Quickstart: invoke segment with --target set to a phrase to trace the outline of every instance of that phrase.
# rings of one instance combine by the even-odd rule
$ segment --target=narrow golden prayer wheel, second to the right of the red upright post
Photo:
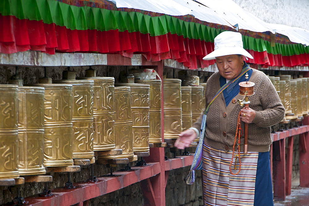
[[[182,130],[192,127],[191,87],[181,86]]]

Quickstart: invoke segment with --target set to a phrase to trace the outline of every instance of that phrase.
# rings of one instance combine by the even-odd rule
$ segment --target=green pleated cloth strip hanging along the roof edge
[[[225,31],[203,24],[180,20],[170,15],[149,16],[140,12],[107,10],[95,7],[77,7],[56,0],[1,0],[0,14],[13,15],[18,19],[42,20],[45,24],[65,26],[71,30],[96,29],[120,32],[149,33],[159,36],[177,34],[189,39],[214,42],[214,37]],[[301,44],[280,44],[274,47],[261,38],[243,36],[244,48],[283,56],[309,54],[309,47]]]

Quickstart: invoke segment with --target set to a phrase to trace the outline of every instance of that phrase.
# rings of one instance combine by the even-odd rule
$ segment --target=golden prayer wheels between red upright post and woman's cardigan
[[[178,138],[201,116],[204,86],[181,86],[180,79],[163,79],[164,139]]]

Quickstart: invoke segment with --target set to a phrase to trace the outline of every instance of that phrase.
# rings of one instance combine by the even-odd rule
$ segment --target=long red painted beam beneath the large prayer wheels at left
[[[127,172],[114,172],[113,177],[98,177],[98,182],[82,181],[74,183],[74,189],[52,189],[51,191],[53,196],[50,197],[40,197],[38,195],[34,195],[26,197],[25,200],[28,201],[29,205],[32,206],[87,205],[88,199],[119,190],[135,182],[139,182],[141,180],[153,177],[161,172],[159,163],[147,164],[147,166],[131,167],[131,170]]]

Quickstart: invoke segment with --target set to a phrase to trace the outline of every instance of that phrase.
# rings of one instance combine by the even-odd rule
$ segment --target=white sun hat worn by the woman
[[[218,56],[240,54],[250,59],[253,57],[243,48],[243,40],[238,32],[226,31],[214,38],[214,51],[206,55],[203,60],[213,60]]]

